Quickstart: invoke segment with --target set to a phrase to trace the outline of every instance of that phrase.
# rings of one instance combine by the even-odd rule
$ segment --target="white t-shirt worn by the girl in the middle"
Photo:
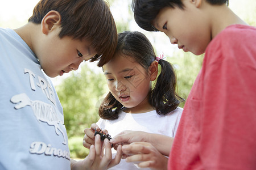
[[[146,131],[148,133],[156,133],[175,137],[177,127],[179,125],[180,117],[183,108],[177,108],[174,111],[160,116],[156,111],[147,113],[125,113],[121,111],[116,120],[103,120],[100,118],[96,123],[102,130],[108,130],[111,137],[121,133],[124,130]],[[112,148],[112,157],[116,155],[116,151]],[[109,169],[150,169],[138,168],[137,164],[127,163],[121,159],[118,165]]]

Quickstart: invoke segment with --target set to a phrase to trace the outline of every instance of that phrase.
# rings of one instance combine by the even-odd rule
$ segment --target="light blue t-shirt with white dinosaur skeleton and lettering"
[[[0,169],[70,169],[63,108],[26,42],[0,28]]]

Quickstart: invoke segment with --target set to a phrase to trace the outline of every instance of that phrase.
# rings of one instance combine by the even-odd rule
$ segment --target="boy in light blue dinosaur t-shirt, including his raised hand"
[[[82,61],[102,66],[116,45],[103,0],[42,0],[26,25],[0,28],[0,169],[106,169],[119,162],[108,140],[101,157],[98,137],[87,158],[70,158],[63,108],[48,78]]]

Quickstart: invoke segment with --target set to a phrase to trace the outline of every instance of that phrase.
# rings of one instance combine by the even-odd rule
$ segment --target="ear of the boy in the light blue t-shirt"
[[[61,16],[57,11],[49,11],[44,18],[42,19],[42,32],[47,35],[50,31],[52,31],[55,27],[59,27],[61,25]]]

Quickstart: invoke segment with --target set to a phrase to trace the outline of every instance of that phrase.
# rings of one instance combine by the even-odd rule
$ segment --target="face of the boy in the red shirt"
[[[184,9],[165,7],[160,10],[153,25],[184,52],[203,54],[211,40],[209,21],[192,1],[183,3]]]

